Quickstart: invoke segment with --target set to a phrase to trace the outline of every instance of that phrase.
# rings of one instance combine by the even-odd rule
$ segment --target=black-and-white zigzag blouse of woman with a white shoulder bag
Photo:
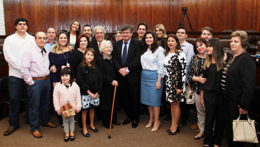
[[[190,62],[190,66],[189,66],[189,70],[187,73],[187,78],[189,79],[190,82],[193,83],[194,87],[193,87],[193,91],[195,93],[197,93],[198,95],[200,95],[200,89],[199,89],[199,82],[195,82],[192,81],[192,77],[194,76],[194,61],[195,61],[195,55],[191,57],[191,62]],[[196,69],[196,77],[201,76],[201,70],[202,70],[202,65],[204,63],[205,59],[204,58],[200,58],[199,56],[196,56],[196,63],[195,63],[195,69]],[[192,85],[191,85],[192,87]]]

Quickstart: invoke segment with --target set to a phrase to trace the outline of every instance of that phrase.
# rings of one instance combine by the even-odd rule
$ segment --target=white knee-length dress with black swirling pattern
[[[186,55],[182,51],[177,54],[169,52],[164,59],[166,71],[166,100],[168,102],[183,102],[186,81]],[[177,89],[183,91],[177,95]]]

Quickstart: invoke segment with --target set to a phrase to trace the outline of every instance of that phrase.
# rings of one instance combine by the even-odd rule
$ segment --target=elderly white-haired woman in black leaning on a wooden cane
[[[109,129],[110,126],[110,115],[112,110],[112,103],[113,103],[113,95],[114,95],[114,88],[118,86],[118,82],[116,81],[116,70],[113,66],[114,60],[110,55],[113,46],[111,41],[104,40],[99,48],[102,56],[99,56],[96,60],[97,65],[99,66],[102,77],[103,77],[103,87],[100,93],[100,103],[99,108],[102,110],[102,125]],[[119,108],[119,100],[118,95],[115,95],[115,102],[114,102],[114,111],[113,111],[113,118],[112,123],[114,125],[120,125],[119,121],[116,121],[116,109]],[[113,126],[111,126],[113,129]]]

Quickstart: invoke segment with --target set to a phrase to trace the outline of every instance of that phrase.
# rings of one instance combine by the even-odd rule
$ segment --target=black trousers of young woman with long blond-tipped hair
[[[224,121],[224,104],[213,105],[204,101],[205,104],[205,125],[204,125],[204,145],[215,144],[220,146],[225,130]],[[215,129],[213,133],[213,125],[215,123]]]

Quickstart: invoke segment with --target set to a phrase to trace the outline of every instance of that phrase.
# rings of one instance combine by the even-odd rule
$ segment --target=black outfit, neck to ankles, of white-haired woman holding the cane
[[[102,110],[102,124],[103,126],[109,126],[110,116],[113,104],[115,86],[111,83],[116,80],[116,70],[113,66],[114,60],[110,56],[110,60],[102,54],[97,58],[97,65],[100,67],[100,71],[103,77],[103,86],[100,93],[99,109]],[[111,62],[110,62],[111,61]],[[119,108],[118,92],[116,91],[114,111],[113,111],[113,122],[116,122],[117,112],[115,108]]]

